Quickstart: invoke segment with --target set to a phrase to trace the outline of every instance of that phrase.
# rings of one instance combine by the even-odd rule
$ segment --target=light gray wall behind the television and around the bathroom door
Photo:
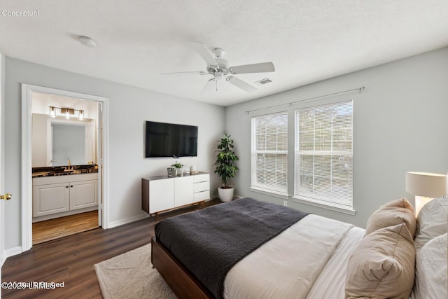
[[[197,158],[181,158],[188,167],[213,171],[216,142],[224,132],[225,109],[150,90],[43,67],[6,57],[4,100],[6,190],[14,200],[6,202],[6,249],[21,244],[21,85],[29,83],[60,90],[109,97],[109,207],[110,222],[122,223],[141,216],[141,177],[166,174],[171,158],[144,158],[144,122],[197,125]],[[219,181],[211,175],[212,190]]]

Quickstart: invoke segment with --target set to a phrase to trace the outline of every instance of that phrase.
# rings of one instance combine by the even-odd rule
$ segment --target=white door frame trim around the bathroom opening
[[[96,95],[87,95],[79,92],[58,90],[38,85],[22,83],[22,252],[31,249],[32,238],[32,218],[33,218],[33,181],[32,181],[32,148],[31,148],[31,92],[47,93],[50,95],[61,95],[65,97],[75,97],[87,99],[102,104],[103,132],[102,138],[98,136],[97,145],[103,139],[103,156],[99,160],[99,180],[103,180],[102,193],[103,200],[99,200],[98,209],[102,213],[102,227],[109,228],[109,98]],[[98,124],[99,126],[101,123]],[[101,197],[99,197],[101,198]]]

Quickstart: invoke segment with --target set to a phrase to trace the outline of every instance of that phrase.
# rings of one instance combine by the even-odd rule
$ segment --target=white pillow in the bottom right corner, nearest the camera
[[[448,298],[447,233],[431,239],[416,256],[414,298]]]

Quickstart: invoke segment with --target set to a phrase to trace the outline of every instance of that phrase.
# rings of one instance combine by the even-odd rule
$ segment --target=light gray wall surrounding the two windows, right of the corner
[[[285,104],[333,92],[366,89],[338,96],[353,99],[353,208],[351,216],[288,200],[288,206],[365,227],[381,204],[405,193],[405,172],[446,174],[448,170],[448,48],[372,67],[226,109],[226,132],[235,139],[239,174],[232,182],[238,195],[282,204],[283,200],[249,190],[251,186],[251,116],[245,111]],[[271,84],[275,84],[271,83]],[[317,102],[317,101],[316,101]],[[309,103],[307,103],[309,104]],[[288,108],[263,111],[290,111]],[[260,113],[260,112],[259,112]],[[290,123],[291,124],[291,123]],[[288,131],[290,149],[294,129]],[[293,151],[289,152],[293,155]],[[288,191],[293,194],[293,160]]]

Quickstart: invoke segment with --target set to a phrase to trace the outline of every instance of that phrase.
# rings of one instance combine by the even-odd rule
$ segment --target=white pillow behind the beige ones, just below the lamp
[[[448,197],[438,197],[421,208],[417,217],[415,249],[418,252],[430,239],[447,233]]]

